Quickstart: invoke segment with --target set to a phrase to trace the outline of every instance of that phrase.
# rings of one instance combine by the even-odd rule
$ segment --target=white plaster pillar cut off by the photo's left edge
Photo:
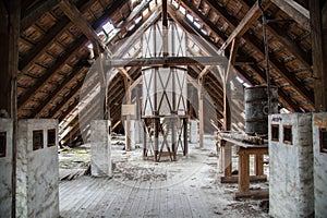
[[[0,119],[0,131],[7,132],[5,157],[0,157],[0,217],[11,217],[12,120]]]

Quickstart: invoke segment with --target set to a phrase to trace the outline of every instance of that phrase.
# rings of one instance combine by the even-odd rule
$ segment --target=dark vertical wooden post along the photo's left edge
[[[17,71],[21,1],[0,1],[0,110],[1,117],[13,120],[12,135],[12,210],[16,217],[16,138],[17,138]]]

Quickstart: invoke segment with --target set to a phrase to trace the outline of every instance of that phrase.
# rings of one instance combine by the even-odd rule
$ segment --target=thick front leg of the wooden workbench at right
[[[239,192],[247,193],[250,190],[250,161],[249,153],[241,147],[239,150]]]

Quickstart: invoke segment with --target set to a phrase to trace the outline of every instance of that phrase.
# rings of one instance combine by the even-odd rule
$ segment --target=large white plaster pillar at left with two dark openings
[[[56,145],[48,147],[48,130]],[[44,148],[33,150],[33,131],[44,131]],[[20,120],[17,142],[17,217],[59,217],[58,122]]]

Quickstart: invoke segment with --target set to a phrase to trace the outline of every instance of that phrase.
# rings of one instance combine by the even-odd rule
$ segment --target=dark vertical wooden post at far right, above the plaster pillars
[[[312,56],[313,56],[313,73],[315,77],[315,110],[327,111],[327,71],[324,65],[324,45],[323,36],[323,15],[322,5],[319,1],[310,1],[310,15],[311,15],[311,41],[312,41]]]

